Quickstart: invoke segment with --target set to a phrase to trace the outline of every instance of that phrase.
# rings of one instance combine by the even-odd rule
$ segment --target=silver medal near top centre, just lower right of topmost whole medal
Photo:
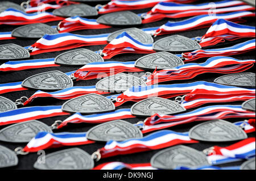
[[[112,12],[97,18],[97,23],[110,26],[135,26],[142,23],[141,17],[131,11]]]

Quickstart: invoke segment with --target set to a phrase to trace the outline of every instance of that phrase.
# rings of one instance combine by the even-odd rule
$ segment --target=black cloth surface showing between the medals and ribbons
[[[21,3],[23,2],[22,0],[20,1],[14,1],[15,3]],[[213,1],[198,1],[197,3],[203,3],[203,2],[213,2]],[[94,3],[92,5],[97,5],[97,3]],[[147,12],[150,9],[143,9],[143,10],[134,10],[133,12],[135,13],[141,13],[141,12]],[[171,19],[171,21],[179,21],[179,20],[183,20],[186,18],[182,18],[182,19]],[[243,23],[249,26],[255,26],[255,19],[254,18],[246,18],[247,22]],[[160,20],[158,22],[154,22],[154,23],[148,23],[148,24],[142,24],[142,26],[139,26],[138,28],[146,28],[146,27],[156,27],[156,26],[161,26],[165,23],[168,22],[168,19],[163,19]],[[46,23],[48,25],[51,26],[56,26],[58,24],[58,22],[49,22]],[[7,32],[7,31],[12,31],[14,30],[14,28],[16,28],[18,26],[7,26],[7,25],[0,25],[0,31],[1,32]],[[81,31],[75,31],[72,33],[77,33],[80,35],[97,35],[97,34],[101,34],[101,33],[110,33],[110,32],[114,32],[117,30],[121,30],[122,28],[106,28],[106,29],[100,29],[100,30],[81,30]],[[174,34],[179,34],[179,35],[183,35],[183,36],[187,36],[187,37],[196,37],[196,36],[203,36],[205,32],[207,32],[208,28],[203,28],[200,30],[189,30],[189,31],[185,31],[185,32],[180,32],[180,33],[174,33]],[[155,37],[154,40],[159,40],[162,39],[163,37],[166,37],[168,35],[164,35],[164,36],[158,36]],[[170,35],[169,35],[170,36]],[[14,39],[14,40],[1,40],[0,44],[8,44],[8,43],[14,43],[14,44],[18,44],[22,47],[26,47],[28,45],[34,44],[35,43],[35,39]],[[240,39],[238,41],[232,41],[232,42],[225,42],[222,44],[218,44],[216,46],[214,46],[215,48],[221,48],[221,47],[228,47],[240,42],[246,41],[246,39]],[[89,46],[89,47],[83,47],[89,50],[99,50],[99,49],[103,49],[105,47],[105,45],[94,45],[94,46]],[[52,58],[52,57],[56,57],[57,55],[66,52],[68,50],[64,50],[64,51],[59,51],[59,52],[50,52],[50,53],[43,53],[43,54],[37,54],[34,56],[31,56],[30,59],[36,59],[36,58]],[[121,54],[118,56],[113,57],[112,61],[135,61],[137,60],[139,57],[144,56],[144,54]],[[249,53],[246,54],[240,54],[240,55],[236,55],[236,56],[232,56],[234,58],[238,58],[241,60],[245,60],[245,59],[255,59],[255,50],[251,51]],[[110,60],[105,60],[105,61],[110,61]],[[197,60],[196,62],[204,62],[205,60],[207,60],[207,58],[201,58],[200,60]],[[6,60],[7,61],[7,60]],[[0,63],[3,64],[5,61],[0,60]],[[0,72],[0,83],[9,83],[9,82],[18,82],[18,81],[23,81],[25,78],[30,77],[31,75],[34,74],[38,74],[38,73],[43,73],[46,71],[52,71],[52,70],[60,70],[65,72],[68,71],[73,71],[73,70],[77,70],[79,69],[80,66],[77,67],[66,67],[66,66],[60,66],[60,67],[54,67],[54,68],[41,68],[41,69],[30,69],[30,70],[23,70],[23,71],[14,71],[14,72],[7,72],[7,73],[2,73]],[[254,68],[251,68],[250,70],[247,70],[250,72],[254,72]],[[183,80],[183,81],[171,81],[171,82],[164,82],[162,84],[172,84],[172,83],[185,83],[185,82],[195,82],[195,81],[208,81],[208,82],[213,82],[213,80],[217,77],[220,77],[223,74],[217,74],[217,73],[205,73],[202,75],[198,75],[197,77],[193,78],[193,79],[188,79],[188,80]],[[93,80],[89,80],[89,81],[79,81],[79,82],[75,82],[74,86],[90,86],[90,85],[95,85],[96,82],[98,80],[97,79],[93,79]],[[19,99],[22,96],[27,96],[30,97],[32,94],[34,94],[35,91],[32,90],[26,90],[26,91],[17,91],[17,92],[9,92],[9,93],[5,93],[2,94],[1,96],[5,96],[6,98],[9,98],[13,101],[15,101],[16,99]],[[38,98],[35,99],[30,106],[53,106],[53,105],[62,105],[65,102],[65,100],[57,100],[57,99],[53,99],[53,98]],[[228,104],[241,104],[242,102],[234,102],[234,103],[228,103]],[[133,105],[132,102],[128,102],[123,104],[122,106],[119,106],[117,109],[120,108],[130,108]],[[204,104],[203,106],[209,106],[210,104]],[[213,105],[213,104],[212,104]],[[191,110],[189,110],[191,111]],[[47,125],[51,125],[52,123],[54,123],[55,120],[64,120],[66,119],[68,116],[58,116],[58,117],[50,117],[50,118],[46,118],[46,119],[40,119],[40,121],[42,121],[43,123],[46,123]],[[137,123],[138,121],[143,121],[144,119],[141,118],[134,118],[134,119],[126,119],[126,121],[129,121],[130,123]],[[244,120],[244,119],[226,119],[230,122],[235,122],[235,121],[240,121],[240,120]],[[176,132],[187,132],[189,131],[190,128],[192,128],[194,125],[199,124],[199,123],[190,123],[190,124],[184,124],[184,125],[179,125],[176,127],[172,127],[170,128],[172,131],[176,131]],[[54,132],[86,132],[88,131],[90,128],[92,128],[95,124],[69,124],[67,127],[64,127],[62,129],[59,130],[55,130]],[[0,129],[5,128],[7,125],[5,126],[1,126]],[[254,137],[255,133],[250,133],[248,134],[249,137]],[[199,144],[189,144],[187,146],[191,147],[191,148],[195,148],[197,150],[203,150],[205,148],[209,148],[210,146],[213,145],[218,145],[218,146],[228,146],[230,144],[234,144],[235,142],[216,142],[216,143],[210,143],[210,142],[200,142]],[[14,144],[14,143],[8,143],[8,142],[2,142],[0,141],[0,145],[6,146],[7,148],[14,150],[16,147],[18,146],[26,146],[26,144]],[[92,154],[94,151],[96,151],[99,148],[102,148],[105,144],[102,143],[96,143],[96,144],[91,144],[91,145],[81,145],[81,146],[76,146],[77,148],[81,148],[82,150],[87,151],[89,154]],[[66,149],[66,148],[71,148],[71,147],[62,147],[62,148],[58,148],[58,149],[47,149],[46,153],[52,153],[53,151],[57,151],[57,150],[62,150],[62,149]],[[111,158],[104,158],[101,159],[100,161],[96,162],[95,165],[100,165],[101,163],[105,163],[105,162],[113,162],[113,161],[119,161],[119,162],[125,162],[125,163],[148,163],[150,162],[150,158],[152,157],[152,155],[154,155],[155,153],[157,153],[159,150],[151,150],[151,151],[146,151],[143,153],[135,153],[135,154],[129,154],[129,155],[121,155],[121,156],[115,156],[115,157],[111,157]],[[34,169],[33,165],[36,162],[37,158],[39,155],[37,155],[37,153],[30,153],[28,155],[19,155],[19,164],[18,166],[14,166],[14,167],[10,167],[8,169]],[[226,163],[224,165],[221,166],[239,166],[241,165],[241,162],[235,162],[235,163]]]

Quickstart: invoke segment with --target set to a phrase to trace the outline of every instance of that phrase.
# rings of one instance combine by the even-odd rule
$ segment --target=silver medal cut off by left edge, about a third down
[[[28,50],[13,43],[0,45],[0,60],[29,58]]]

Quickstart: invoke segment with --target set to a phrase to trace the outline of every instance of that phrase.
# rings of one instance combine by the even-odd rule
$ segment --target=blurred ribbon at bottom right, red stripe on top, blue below
[[[255,157],[255,137],[247,138],[236,144],[220,147],[213,146],[209,149],[208,161],[212,165],[241,161]]]

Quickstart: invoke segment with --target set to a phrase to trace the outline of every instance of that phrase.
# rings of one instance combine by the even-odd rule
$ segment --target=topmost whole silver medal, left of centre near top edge
[[[69,5],[63,6],[59,9],[55,9],[52,11],[53,15],[56,16],[64,16],[64,17],[72,17],[72,16],[97,16],[98,11],[95,7],[85,5],[85,4],[77,4],[77,5]]]

